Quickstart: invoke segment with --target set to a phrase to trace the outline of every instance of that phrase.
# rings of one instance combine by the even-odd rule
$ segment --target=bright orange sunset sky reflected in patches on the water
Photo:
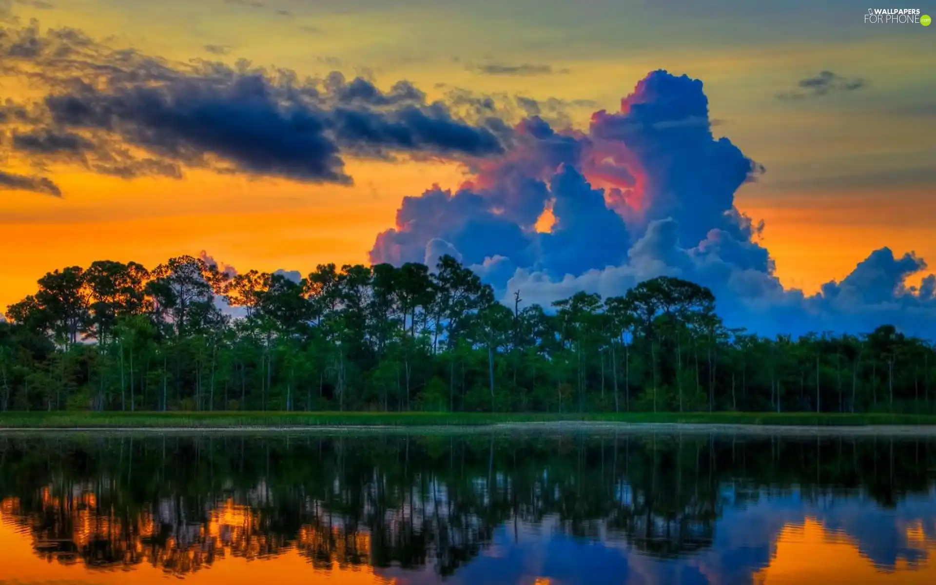
[[[52,504],[52,503],[50,503]],[[93,499],[87,503],[95,505]],[[16,529],[9,516],[14,502],[5,501],[0,511],[0,583],[69,582],[87,584],[164,583],[171,576],[167,570],[154,567],[151,563],[137,563],[132,568],[89,570],[82,563],[62,563],[46,560],[36,554],[34,542],[29,534]],[[231,527],[251,524],[249,511],[228,503],[212,512],[206,532],[218,537],[220,532]],[[80,522],[79,522],[80,523]],[[87,528],[87,527],[86,527]],[[82,528],[76,529],[83,534]],[[96,529],[100,531],[98,524]],[[787,524],[776,534],[774,552],[768,566],[753,573],[755,585],[782,585],[786,583],[903,583],[923,584],[936,582],[936,542],[927,539],[921,521],[912,521],[905,526],[907,544],[918,548],[923,561],[910,564],[899,560],[891,568],[875,567],[870,559],[861,554],[858,544],[847,534],[827,530],[818,520],[807,518],[802,524]],[[300,532],[300,541],[314,538],[307,530]],[[366,535],[358,534],[358,548],[366,548]],[[79,536],[80,540],[80,536]],[[335,551],[340,557],[342,551]],[[193,550],[188,552],[191,559]],[[636,554],[636,553],[635,553]],[[636,567],[635,567],[636,568]],[[712,583],[723,583],[724,577],[705,568]],[[226,585],[256,585],[271,582],[283,585],[308,583],[344,583],[347,585],[393,585],[405,582],[396,578],[375,575],[369,566],[343,566],[335,561],[330,570],[320,570],[303,558],[294,547],[286,548],[274,557],[259,558],[248,554],[236,556],[226,554],[216,558],[210,565],[202,565],[184,574],[184,581],[197,584],[225,583]],[[650,575],[645,575],[650,578]],[[558,585],[561,581],[552,578],[531,578],[535,585]]]

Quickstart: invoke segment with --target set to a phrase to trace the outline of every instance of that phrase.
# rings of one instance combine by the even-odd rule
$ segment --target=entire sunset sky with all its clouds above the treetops
[[[445,252],[530,301],[665,273],[754,329],[929,330],[936,27],[868,10],[0,0],[0,307],[98,259]]]

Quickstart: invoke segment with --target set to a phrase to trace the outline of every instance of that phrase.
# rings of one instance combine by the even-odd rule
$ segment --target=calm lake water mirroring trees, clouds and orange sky
[[[936,442],[0,435],[0,583],[933,583]]]

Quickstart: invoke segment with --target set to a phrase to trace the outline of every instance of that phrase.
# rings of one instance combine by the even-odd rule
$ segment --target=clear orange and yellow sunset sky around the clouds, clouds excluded
[[[21,3],[15,11],[21,22],[75,26],[172,59],[248,57],[302,74],[363,71],[385,88],[412,80],[431,96],[457,86],[598,105],[569,110],[575,124],[614,108],[651,69],[686,72],[706,84],[710,115],[724,123],[715,132],[768,169],[741,188],[738,205],[766,221],[765,242],[784,285],[813,292],[884,245],[936,258],[936,178],[925,172],[936,154],[936,78],[920,74],[936,65],[933,30],[862,28],[845,2],[830,3],[830,14],[810,8],[808,19],[795,8],[771,8],[778,10],[771,22],[797,22],[786,32],[761,28],[745,10],[696,13],[692,4],[680,22],[643,5],[594,18],[602,0],[578,11],[516,0],[523,19],[489,0],[471,10],[447,0],[431,8],[358,0],[346,10],[294,0],[262,9],[223,0],[157,4],[75,0],[48,9]],[[209,44],[228,54],[209,54]],[[484,76],[471,70],[481,62],[548,63],[564,73]],[[820,69],[866,78],[868,88],[809,103],[775,98]],[[18,80],[2,81],[0,96],[24,91],[15,89]],[[7,163],[13,172],[28,161]],[[348,161],[347,170],[353,187],[191,170],[181,181],[124,181],[52,168],[65,197],[0,193],[0,307],[33,292],[45,271],[96,259],[153,267],[204,249],[239,270],[363,262],[403,196],[463,178],[441,163]]]

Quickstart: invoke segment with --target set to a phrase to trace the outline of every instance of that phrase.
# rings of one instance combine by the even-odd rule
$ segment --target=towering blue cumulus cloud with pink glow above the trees
[[[936,277],[906,285],[926,269],[912,254],[877,250],[814,296],[784,289],[756,238],[763,225],[735,207],[739,187],[764,170],[729,139],[714,138],[700,80],[653,71],[620,111],[595,112],[587,132],[526,119],[505,154],[475,163],[472,181],[404,198],[371,259],[399,264],[446,253],[502,294],[520,289],[543,304],[679,276],[709,286],[729,325],[757,332],[893,323],[932,334]]]

